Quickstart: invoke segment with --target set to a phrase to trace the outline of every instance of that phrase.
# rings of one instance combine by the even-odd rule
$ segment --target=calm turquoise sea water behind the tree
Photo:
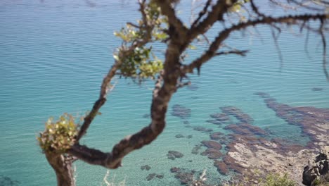
[[[186,3],[186,2],[185,2]],[[187,2],[188,4],[188,2]],[[98,97],[99,87],[111,66],[112,52],[120,41],[112,34],[125,21],[138,18],[137,6],[129,1],[1,1],[0,2],[0,175],[17,185],[56,185],[56,177],[37,145],[35,136],[49,116],[67,112],[84,114]],[[188,19],[188,8],[181,16]],[[185,16],[185,17],[184,17]],[[239,49],[250,49],[247,57],[221,56],[202,66],[200,77],[191,76],[198,89],[180,89],[171,103],[191,109],[192,126],[215,131],[224,129],[207,123],[220,106],[236,106],[254,118],[254,125],[268,128],[274,136],[306,143],[297,126],[286,125],[254,92],[267,92],[280,103],[329,108],[321,38],[310,34],[305,54],[305,34],[283,32],[278,51],[269,27],[258,27],[261,37],[233,35]],[[215,31],[214,31],[215,32]],[[294,32],[294,33],[292,33]],[[256,34],[256,32],[254,32]],[[328,35],[326,33],[325,35]],[[262,38],[262,39],[260,39]],[[328,41],[327,41],[328,42]],[[198,52],[190,53],[191,60]],[[329,58],[328,58],[329,60]],[[314,87],[322,91],[312,91]],[[138,131],[150,120],[143,118],[150,107],[153,82],[138,86],[118,79],[82,143],[103,151],[112,149],[122,137]],[[110,171],[110,180],[126,185],[179,185],[169,169],[173,166],[207,170],[208,180],[226,177],[217,173],[213,161],[191,150],[209,134],[186,128],[183,120],[167,114],[167,127],[153,144],[129,154],[123,167]],[[193,135],[191,139],[175,135]],[[167,151],[184,154],[167,159]],[[191,162],[192,161],[192,162]],[[150,171],[141,171],[148,164]],[[77,185],[100,185],[106,169],[77,162]],[[163,179],[146,180],[149,173]]]

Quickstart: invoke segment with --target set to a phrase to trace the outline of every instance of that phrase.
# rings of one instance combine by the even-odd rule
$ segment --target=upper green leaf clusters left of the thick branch
[[[167,25],[167,18],[161,16],[161,9],[153,1],[146,4],[141,10],[142,18],[137,20],[136,25],[127,23],[120,32],[115,32],[115,36],[122,39],[122,46],[113,55],[116,61],[120,61],[120,75],[123,77],[131,77],[133,80],[141,82],[145,79],[154,79],[157,73],[163,69],[163,63],[152,52],[152,47],[134,46],[136,42],[143,41],[148,38],[146,43],[164,42],[168,35],[164,31]],[[129,49],[130,48],[130,49]]]

